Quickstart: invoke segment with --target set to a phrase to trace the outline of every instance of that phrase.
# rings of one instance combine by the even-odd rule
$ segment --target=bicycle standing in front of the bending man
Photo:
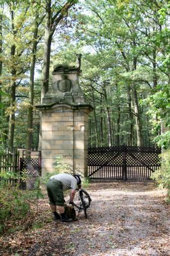
[[[88,192],[81,188],[81,185],[78,185],[76,191],[78,191],[79,193],[77,194],[77,198],[75,195],[73,206],[75,206],[79,210],[79,212],[84,211],[85,218],[88,218],[86,210],[91,204],[91,198]]]

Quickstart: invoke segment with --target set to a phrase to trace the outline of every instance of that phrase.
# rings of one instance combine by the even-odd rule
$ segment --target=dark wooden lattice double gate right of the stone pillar
[[[88,177],[92,180],[150,180],[160,166],[160,148],[99,147],[88,149]]]

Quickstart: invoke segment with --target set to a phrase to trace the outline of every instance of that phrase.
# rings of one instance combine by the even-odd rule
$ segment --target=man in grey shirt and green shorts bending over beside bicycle
[[[64,195],[63,191],[71,189],[70,191],[70,204],[73,204],[73,198],[75,196],[75,189],[77,185],[81,184],[81,178],[79,175],[70,175],[67,173],[59,173],[50,177],[47,182],[47,194],[49,196],[50,209],[54,214],[54,220],[60,220],[63,222],[70,222],[73,219],[68,218],[65,213],[64,207]],[[58,206],[58,212],[56,211],[56,205]]]

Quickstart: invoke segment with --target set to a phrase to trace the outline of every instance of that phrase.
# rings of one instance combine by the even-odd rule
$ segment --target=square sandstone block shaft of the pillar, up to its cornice
[[[36,108],[42,112],[42,175],[56,172],[58,159],[63,167],[68,164],[73,173],[87,176],[88,113],[91,106],[52,104]]]

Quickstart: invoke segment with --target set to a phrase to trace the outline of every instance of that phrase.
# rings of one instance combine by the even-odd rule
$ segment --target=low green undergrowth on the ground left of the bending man
[[[36,206],[36,212],[38,212],[38,199],[42,198],[42,191],[40,189],[40,180],[35,183],[34,189],[27,189],[25,191],[19,189],[19,184],[10,184],[8,182],[9,177],[15,177],[8,173],[4,175],[4,181],[1,180],[0,184],[0,233],[13,232],[24,228],[24,224],[16,226],[15,221],[24,220],[31,214],[33,205]],[[19,176],[17,176],[19,179]],[[8,222],[12,221],[12,230],[8,230]]]

